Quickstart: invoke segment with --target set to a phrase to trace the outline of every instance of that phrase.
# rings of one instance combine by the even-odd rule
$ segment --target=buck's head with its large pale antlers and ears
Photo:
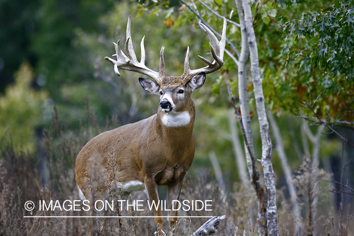
[[[165,61],[164,61],[164,47],[162,46],[160,51],[160,66],[159,71],[153,71],[145,66],[145,49],[144,49],[144,38],[141,40],[141,61],[138,62],[133,43],[131,39],[131,17],[128,18],[127,24],[127,39],[125,42],[125,51],[120,49],[120,40],[117,43],[113,43],[115,46],[116,53],[112,57],[116,56],[117,60],[114,60],[109,57],[105,57],[107,61],[111,62],[114,65],[115,73],[120,76],[119,69],[136,71],[138,73],[147,75],[154,80],[139,78],[139,82],[145,91],[153,94],[160,95],[160,107],[166,113],[169,112],[178,112],[179,102],[184,97],[189,97],[189,90],[200,88],[205,81],[205,74],[212,73],[220,69],[223,65],[224,57],[224,48],[225,48],[225,39],[226,39],[226,20],[224,19],[223,32],[221,41],[218,41],[216,36],[207,28],[204,24],[200,24],[209,35],[210,39],[210,50],[214,58],[213,62],[205,59],[204,57],[198,56],[203,62],[207,64],[206,67],[191,70],[189,68],[189,47],[187,47],[187,54],[184,60],[184,71],[181,76],[165,76]],[[187,95],[184,95],[187,92]],[[183,94],[183,95],[182,95]],[[173,95],[173,96],[172,96]]]

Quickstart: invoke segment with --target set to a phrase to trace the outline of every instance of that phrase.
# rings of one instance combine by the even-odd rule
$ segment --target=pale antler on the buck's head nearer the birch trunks
[[[209,46],[210,46],[210,51],[211,51],[211,54],[214,58],[214,61],[211,63],[209,60],[198,55],[198,57],[208,65],[204,68],[191,70],[189,68],[189,47],[187,47],[187,54],[186,54],[185,60],[184,60],[184,71],[181,76],[182,81],[184,83],[187,83],[190,79],[192,79],[192,77],[194,75],[196,75],[198,73],[201,73],[201,72],[205,72],[205,74],[212,73],[212,72],[220,69],[224,64],[223,58],[224,58],[224,49],[225,49],[225,41],[226,41],[226,19],[225,19],[225,17],[224,17],[224,24],[223,24],[223,30],[222,30],[222,36],[221,36],[220,42],[218,41],[216,36],[212,33],[212,31],[209,28],[207,28],[202,23],[200,23],[200,25],[206,30],[207,34],[209,35],[209,39],[210,39]]]

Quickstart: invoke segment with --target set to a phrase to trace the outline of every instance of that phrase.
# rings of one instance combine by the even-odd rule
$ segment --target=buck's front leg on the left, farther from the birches
[[[159,194],[157,191],[157,184],[155,182],[155,178],[145,177],[144,182],[145,182],[145,190],[148,195],[149,202],[153,206],[154,216],[156,217],[155,218],[156,226],[158,226],[158,228],[161,228],[162,230],[163,229],[162,226],[164,224],[164,218],[162,218],[162,211],[161,211],[161,206],[159,204]],[[157,209],[155,208],[155,206],[158,206]]]

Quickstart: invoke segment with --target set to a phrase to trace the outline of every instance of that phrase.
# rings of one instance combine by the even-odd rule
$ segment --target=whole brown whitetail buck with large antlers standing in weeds
[[[145,66],[144,38],[141,41],[141,61],[137,61],[130,22],[129,17],[126,55],[120,50],[118,41],[117,44],[114,43],[116,54],[113,55],[117,60],[109,57],[104,59],[113,63],[118,76],[118,69],[123,69],[153,78],[154,80],[139,78],[139,82],[147,92],[160,95],[158,112],[147,119],[101,133],[91,139],[76,158],[76,183],[87,200],[92,200],[93,196],[102,198],[108,186],[114,186],[127,194],[145,189],[150,203],[159,201],[157,186],[167,185],[167,203],[169,209],[172,209],[172,200],[178,200],[182,180],[194,158],[192,131],[195,108],[190,94],[204,84],[205,74],[216,71],[223,65],[226,20],[224,18],[220,42],[201,24],[209,35],[214,61],[211,63],[199,56],[207,66],[190,70],[188,47],[184,72],[177,77],[165,76],[164,47],[160,51],[159,71],[155,72]],[[158,210],[153,209],[157,217],[155,223],[162,229],[161,207]],[[176,220],[177,211],[170,211],[170,229]],[[91,228],[92,220],[87,234],[92,233]]]

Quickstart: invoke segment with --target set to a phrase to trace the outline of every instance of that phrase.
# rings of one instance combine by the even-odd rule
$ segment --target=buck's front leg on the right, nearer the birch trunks
[[[185,173],[182,173],[178,182],[174,183],[173,185],[169,185],[167,188],[167,203],[169,205],[169,209],[171,209],[169,214],[170,230],[172,230],[173,225],[177,221],[177,211],[172,211],[172,209],[178,209],[178,202],[173,202],[173,200],[179,200],[179,194],[181,193],[184,175]]]

